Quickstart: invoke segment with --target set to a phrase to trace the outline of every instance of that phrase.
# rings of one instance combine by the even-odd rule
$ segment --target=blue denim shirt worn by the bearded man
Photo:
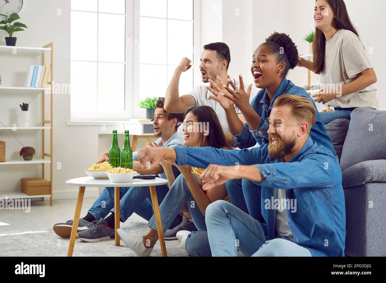
[[[213,147],[175,147],[177,165],[188,164],[207,168],[209,164],[224,166],[256,165],[263,181],[261,185],[261,223],[266,238],[276,236],[276,209],[266,209],[267,200],[278,198],[278,188],[286,198],[296,199],[296,211],[287,209],[288,225],[294,242],[308,248],[313,256],[344,256],[346,236],[345,201],[342,172],[337,158],[324,146],[305,142],[289,161],[274,159],[268,154],[268,144],[242,150]]]

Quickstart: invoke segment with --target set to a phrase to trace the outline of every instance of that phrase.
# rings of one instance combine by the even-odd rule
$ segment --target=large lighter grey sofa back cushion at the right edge
[[[340,156],[342,171],[367,160],[386,159],[386,111],[357,108]]]

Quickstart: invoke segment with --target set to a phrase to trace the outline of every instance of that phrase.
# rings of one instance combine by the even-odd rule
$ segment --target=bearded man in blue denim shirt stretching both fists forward
[[[223,201],[208,206],[205,220],[213,256],[237,256],[237,246],[247,256],[344,256],[342,174],[335,155],[310,137],[315,117],[308,99],[282,95],[269,117],[269,144],[241,151],[142,149],[138,158],[142,164],[172,159],[177,165],[201,168],[210,163],[229,166],[209,166],[201,176],[209,182],[204,190],[233,178],[261,185],[265,223]],[[280,191],[287,203],[295,203],[291,210],[286,206],[284,218],[274,205],[281,200]]]

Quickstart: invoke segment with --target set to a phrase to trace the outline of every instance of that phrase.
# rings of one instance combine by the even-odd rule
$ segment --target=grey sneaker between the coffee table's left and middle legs
[[[88,229],[78,232],[76,238],[86,242],[99,242],[115,238],[115,229],[107,226],[105,219],[94,220]]]

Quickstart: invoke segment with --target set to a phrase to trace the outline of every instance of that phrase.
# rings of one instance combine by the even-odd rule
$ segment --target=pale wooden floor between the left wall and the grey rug
[[[86,216],[88,209],[97,198],[83,199],[81,217]],[[55,223],[66,222],[73,219],[76,199],[58,199],[52,201],[31,201],[30,212],[25,210],[0,210],[0,233],[5,231],[38,229],[52,227]],[[131,218],[142,219],[136,214]],[[9,224],[9,225],[7,225]]]

